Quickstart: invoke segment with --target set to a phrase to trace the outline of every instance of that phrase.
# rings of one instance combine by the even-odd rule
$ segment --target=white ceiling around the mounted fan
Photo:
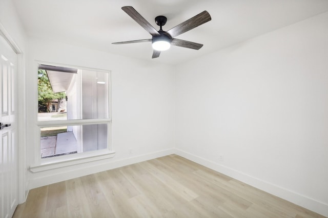
[[[29,36],[84,46],[113,54],[177,64],[212,53],[328,11],[328,0],[13,0]],[[207,10],[212,20],[176,38],[202,43],[200,50],[172,46],[151,59],[151,42],[122,6],[134,7],[155,29],[154,18],[168,18],[163,30]]]

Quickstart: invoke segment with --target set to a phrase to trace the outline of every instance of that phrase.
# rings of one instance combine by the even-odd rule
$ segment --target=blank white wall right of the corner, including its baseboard
[[[178,154],[328,216],[328,13],[182,64],[175,80]]]

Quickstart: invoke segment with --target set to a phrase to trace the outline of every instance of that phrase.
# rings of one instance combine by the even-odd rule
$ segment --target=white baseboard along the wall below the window
[[[175,151],[174,149],[167,149],[167,150],[148,153],[140,156],[134,156],[131,158],[120,159],[117,161],[112,161],[112,160],[110,162],[101,161],[101,163],[99,164],[95,164],[95,163],[79,164],[79,166],[68,167],[69,169],[66,170],[64,168],[61,168],[60,170],[58,170],[55,173],[52,173],[51,175],[49,173],[40,173],[39,174],[40,176],[31,178],[29,180],[28,189],[33,189],[44,185],[53,184],[56,182],[74,179],[77,177],[99,173],[99,172],[107,171],[109,169],[114,169],[121,166],[126,166],[130,164],[174,154],[174,151]]]

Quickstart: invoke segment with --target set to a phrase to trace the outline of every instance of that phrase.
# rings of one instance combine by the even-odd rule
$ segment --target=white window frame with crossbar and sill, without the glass
[[[72,66],[72,65],[65,65],[65,64],[57,64],[57,63],[49,63],[49,62],[41,62],[35,61],[35,80],[37,81],[37,69],[39,64],[45,65],[55,65],[55,66],[64,66],[64,67],[73,67],[78,68],[81,70],[91,70],[91,71],[98,71],[98,72],[106,72],[109,74],[109,87],[108,87],[108,118],[100,118],[100,119],[72,119],[72,120],[38,120],[38,104],[35,104],[34,111],[35,111],[35,149],[34,149],[34,164],[30,166],[30,171],[35,172],[42,172],[47,171],[49,169],[55,169],[59,167],[65,167],[80,163],[86,163],[90,161],[102,160],[107,158],[112,158],[115,155],[115,151],[112,150],[112,143],[111,143],[111,71],[104,70],[104,69],[95,69],[90,67],[80,67],[80,66]],[[37,83],[34,88],[37,90]],[[37,91],[36,91],[37,95]],[[37,102],[37,96],[36,96]],[[85,153],[75,153],[69,155],[60,155],[55,157],[49,158],[41,158],[41,149],[40,149],[40,135],[41,135],[41,128],[43,127],[55,127],[55,126],[75,126],[75,125],[92,125],[92,124],[107,124],[107,149],[103,150],[95,150],[95,151],[88,151]]]

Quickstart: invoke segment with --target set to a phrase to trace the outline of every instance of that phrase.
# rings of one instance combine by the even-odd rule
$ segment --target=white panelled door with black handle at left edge
[[[12,217],[17,206],[16,69],[17,55],[0,35],[0,217]],[[7,125],[10,125],[6,127]]]

